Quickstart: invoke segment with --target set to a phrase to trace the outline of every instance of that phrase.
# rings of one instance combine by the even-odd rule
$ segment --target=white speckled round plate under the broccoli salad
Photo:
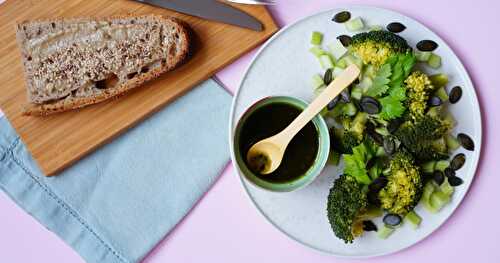
[[[340,257],[373,257],[385,255],[407,248],[436,230],[453,213],[462,201],[474,177],[481,151],[481,114],[472,82],[462,63],[435,33],[419,22],[402,14],[367,6],[343,6],[327,12],[304,18],[272,37],[259,51],[250,64],[239,90],[234,96],[230,117],[230,140],[241,114],[255,101],[271,95],[294,96],[306,101],[312,99],[311,76],[322,73],[318,61],[308,52],[312,31],[325,33],[328,43],[341,34],[349,34],[343,24],[331,21],[334,14],[348,10],[353,17],[360,16],[368,25],[386,26],[391,22],[401,22],[407,28],[401,34],[415,47],[422,39],[431,39],[439,44],[435,51],[442,57],[440,72],[450,76],[449,87],[460,85],[463,96],[459,103],[451,105],[450,111],[458,121],[454,133],[463,132],[475,142],[474,152],[459,149],[466,155],[465,166],[457,172],[464,184],[456,188],[453,200],[438,214],[430,214],[420,206],[417,213],[423,222],[417,230],[408,225],[399,228],[387,240],[377,238],[375,232],[365,233],[353,244],[346,245],[337,239],[326,218],[326,198],[334,179],[342,172],[342,167],[328,166],[310,186],[292,193],[271,193],[258,189],[245,181],[244,189],[264,217],[275,227],[296,241]],[[433,71],[427,68],[429,73]],[[234,153],[231,151],[233,164]],[[239,173],[238,167],[236,170]],[[375,221],[380,226],[380,220]]]

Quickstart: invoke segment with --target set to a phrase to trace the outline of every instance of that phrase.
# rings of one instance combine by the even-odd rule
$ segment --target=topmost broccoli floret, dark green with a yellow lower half
[[[389,31],[377,30],[354,35],[350,50],[365,64],[378,67],[392,55],[411,51],[411,47],[404,38]]]

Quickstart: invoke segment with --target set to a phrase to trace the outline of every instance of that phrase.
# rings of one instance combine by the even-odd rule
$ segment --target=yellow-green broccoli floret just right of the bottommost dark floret
[[[390,162],[387,185],[380,190],[381,207],[390,213],[404,216],[420,200],[423,191],[422,176],[411,154],[397,152]]]

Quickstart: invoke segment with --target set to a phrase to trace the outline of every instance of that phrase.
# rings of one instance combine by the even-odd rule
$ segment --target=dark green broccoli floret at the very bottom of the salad
[[[328,195],[328,221],[335,235],[352,243],[363,233],[362,215],[368,205],[363,186],[354,177],[341,175]]]

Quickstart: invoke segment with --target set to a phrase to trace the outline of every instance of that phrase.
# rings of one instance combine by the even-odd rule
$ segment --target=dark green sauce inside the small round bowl
[[[284,102],[272,103],[255,110],[243,123],[239,146],[241,158],[250,169],[246,161],[246,154],[250,147],[258,141],[273,136],[288,126],[300,113],[301,109]],[[312,122],[309,122],[286,148],[281,165],[276,171],[255,175],[271,183],[287,183],[302,177],[314,164],[318,154],[318,131]]]

